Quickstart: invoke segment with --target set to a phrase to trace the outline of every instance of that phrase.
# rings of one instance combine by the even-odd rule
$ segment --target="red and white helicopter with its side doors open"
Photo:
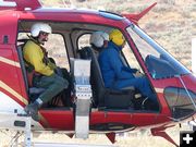
[[[26,131],[26,142],[29,140],[30,131],[64,131],[68,135],[76,134],[76,137],[103,133],[114,143],[118,132],[148,127],[154,136],[164,137],[177,146],[164,132],[166,128],[182,121],[196,124],[196,77],[137,24],[156,3],[139,14],[114,14],[42,8],[38,0],[5,1],[13,3],[0,7],[1,128]],[[68,99],[74,97],[74,103],[44,106],[39,110],[39,122],[24,112],[34,93],[32,89],[36,87],[28,83],[21,51],[23,36],[37,22],[46,22],[52,27],[52,39],[47,48],[53,46],[53,50],[60,49],[53,53],[58,63],[70,69],[74,79],[84,79],[85,74],[87,81],[83,84],[73,81],[74,89]],[[94,50],[91,65],[90,60],[81,59],[79,50],[89,46],[93,32],[109,33],[113,28],[120,29],[126,39],[125,51],[122,52],[126,64],[135,65],[149,79],[159,101],[158,109],[140,102],[140,98],[137,98],[139,94],[134,88],[127,91],[105,88]],[[114,102],[110,103],[111,99]]]

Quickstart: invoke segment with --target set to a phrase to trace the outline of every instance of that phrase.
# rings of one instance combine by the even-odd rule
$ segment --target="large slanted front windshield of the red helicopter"
[[[167,78],[188,74],[189,71],[152,40],[138,26],[126,28],[152,78]]]

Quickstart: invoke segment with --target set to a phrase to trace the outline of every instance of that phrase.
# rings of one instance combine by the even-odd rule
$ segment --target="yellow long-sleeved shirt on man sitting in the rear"
[[[37,73],[47,76],[53,74],[53,68],[47,65],[44,62],[44,52],[40,46],[34,42],[33,40],[28,40],[25,44],[23,48],[23,56],[24,59],[34,66]]]

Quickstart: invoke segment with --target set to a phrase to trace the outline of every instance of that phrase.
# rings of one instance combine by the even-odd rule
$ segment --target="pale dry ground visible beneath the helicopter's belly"
[[[189,131],[191,127],[179,125],[168,128],[167,133],[175,140],[176,144],[180,144],[180,132]],[[1,131],[0,132],[0,147],[10,147],[11,139],[15,135],[13,131]],[[19,139],[19,147],[23,146],[24,136],[22,135]],[[90,134],[89,138],[70,138],[63,133],[52,134],[51,132],[45,132],[41,134],[34,135],[34,143],[61,143],[61,144],[85,144],[85,145],[112,145],[114,147],[174,147],[171,143],[167,142],[161,137],[155,137],[150,134],[149,130],[143,130],[137,132],[130,132],[124,134],[118,134],[115,144],[111,144],[110,140],[103,134]]]

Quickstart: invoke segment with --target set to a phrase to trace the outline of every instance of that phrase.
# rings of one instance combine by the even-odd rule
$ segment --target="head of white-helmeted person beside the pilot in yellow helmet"
[[[109,35],[105,32],[94,32],[90,36],[90,45],[97,51],[108,46]]]

